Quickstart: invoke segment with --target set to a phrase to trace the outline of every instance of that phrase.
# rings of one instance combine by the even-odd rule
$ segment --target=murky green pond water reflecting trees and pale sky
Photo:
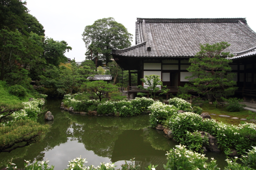
[[[67,168],[68,161],[76,157],[87,158],[89,165],[101,162],[115,162],[117,167],[125,160],[135,158],[135,163],[145,170],[148,164],[157,165],[163,170],[167,163],[166,152],[179,143],[164,137],[162,131],[149,128],[149,116],[134,117],[82,116],[60,109],[61,100],[48,100],[47,111],[54,115],[54,121],[44,121],[44,114],[39,116],[42,124],[51,124],[51,132],[45,139],[28,147],[18,148],[11,153],[0,153],[0,162],[11,158],[18,168],[24,167],[24,159],[34,161],[50,160],[56,170]],[[218,167],[226,166],[225,155],[207,153],[217,160]],[[3,166],[2,166],[3,168]]]

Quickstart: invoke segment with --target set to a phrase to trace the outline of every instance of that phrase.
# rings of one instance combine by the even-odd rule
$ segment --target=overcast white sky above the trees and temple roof
[[[246,18],[256,31],[255,0],[26,0],[30,14],[44,26],[45,35],[65,40],[73,49],[65,55],[85,60],[84,27],[113,17],[133,34],[136,18]]]

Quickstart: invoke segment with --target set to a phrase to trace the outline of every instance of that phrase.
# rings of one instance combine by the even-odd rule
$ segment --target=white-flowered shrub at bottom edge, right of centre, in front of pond
[[[171,149],[167,152],[167,165],[163,165],[166,170],[176,169],[176,170],[219,170],[217,168],[216,160],[212,158],[211,162],[206,163],[208,160],[204,154],[199,154],[191,150],[187,150],[184,145],[176,145],[176,149]]]

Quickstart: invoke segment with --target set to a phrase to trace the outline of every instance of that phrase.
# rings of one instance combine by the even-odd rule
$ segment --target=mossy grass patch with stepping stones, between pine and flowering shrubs
[[[225,124],[238,125],[242,121],[240,120],[241,118],[246,118],[247,116],[249,116],[247,110],[242,110],[241,112],[228,112],[226,108],[223,108],[223,110],[221,107],[216,108],[215,104],[204,103],[201,108],[203,109],[203,113],[206,112],[209,114],[216,114],[210,115],[211,118]],[[230,117],[220,117],[218,115],[228,115]],[[238,117],[239,119],[230,119],[232,117]]]

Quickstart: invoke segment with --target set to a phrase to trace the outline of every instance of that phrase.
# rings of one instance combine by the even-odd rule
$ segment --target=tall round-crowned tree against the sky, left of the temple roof
[[[101,50],[106,64],[110,62],[112,49],[123,49],[131,46],[132,34],[114,18],[102,18],[86,26],[82,34],[85,47],[93,45]]]

